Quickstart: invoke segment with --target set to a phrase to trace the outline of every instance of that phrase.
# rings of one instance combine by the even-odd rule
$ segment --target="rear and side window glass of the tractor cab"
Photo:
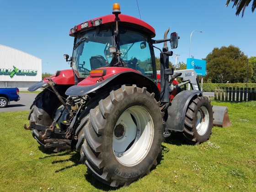
[[[92,69],[113,64],[113,54],[108,51],[109,47],[115,46],[112,45],[113,38],[110,29],[88,31],[76,38],[72,68],[78,77],[87,77]],[[125,29],[119,31],[119,42],[123,67],[138,70],[152,79],[149,39],[139,32]]]

